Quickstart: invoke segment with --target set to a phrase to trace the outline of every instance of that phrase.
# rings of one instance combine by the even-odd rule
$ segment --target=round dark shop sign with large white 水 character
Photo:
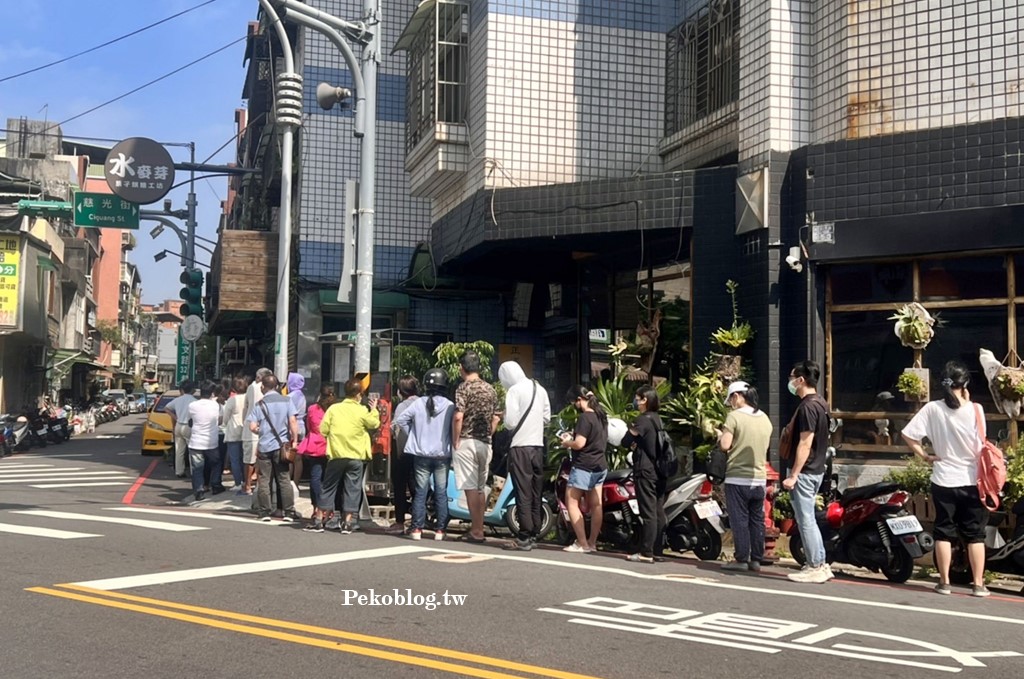
[[[145,137],[118,142],[103,165],[106,184],[130,203],[147,205],[167,196],[174,185],[174,161],[163,145]]]

